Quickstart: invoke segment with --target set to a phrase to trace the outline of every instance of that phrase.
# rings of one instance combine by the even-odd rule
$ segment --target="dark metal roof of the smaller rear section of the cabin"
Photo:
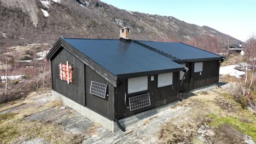
[[[150,47],[153,47],[154,49],[165,52],[168,55],[175,57],[180,61],[187,59],[196,60],[207,58],[223,58],[222,56],[183,43],[168,43],[143,40],[139,41],[139,43],[148,45]]]

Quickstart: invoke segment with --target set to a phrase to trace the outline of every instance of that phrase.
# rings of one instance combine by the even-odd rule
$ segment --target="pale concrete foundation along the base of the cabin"
[[[77,111],[81,115],[90,119],[90,121],[101,124],[102,127],[107,130],[110,130],[112,132],[120,130],[118,128],[117,123],[115,123],[114,121],[111,121],[111,120],[107,119],[106,117],[103,117],[100,114],[98,114],[98,113],[78,104],[78,103],[75,103],[73,100],[66,98],[65,96],[63,96],[60,93],[52,91],[52,98],[53,98],[53,100],[62,100],[63,104],[67,105],[68,107],[71,107],[73,110]],[[138,121],[141,121],[144,118],[155,115],[156,113],[158,113],[160,111],[164,111],[164,110],[170,108],[171,106],[174,106],[177,103],[178,103],[178,101],[168,104],[168,105],[165,105],[165,106],[155,108],[155,109],[151,109],[151,110],[148,110],[145,112],[141,112],[141,113],[138,113],[136,115],[133,115],[133,116],[130,116],[127,118],[120,119],[119,123],[123,128],[126,128],[129,125],[132,125]]]

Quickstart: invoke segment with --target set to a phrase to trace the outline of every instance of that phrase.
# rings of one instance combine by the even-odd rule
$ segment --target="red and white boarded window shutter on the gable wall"
[[[67,83],[73,82],[72,80],[72,65],[60,63],[59,64],[59,70],[60,70],[60,79],[62,81],[67,81]]]

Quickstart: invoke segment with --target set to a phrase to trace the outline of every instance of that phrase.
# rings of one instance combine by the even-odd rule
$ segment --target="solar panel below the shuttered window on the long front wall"
[[[129,98],[130,111],[141,109],[150,105],[149,93],[137,95]]]

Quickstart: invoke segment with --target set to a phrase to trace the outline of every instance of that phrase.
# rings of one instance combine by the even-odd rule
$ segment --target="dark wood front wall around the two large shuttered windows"
[[[158,88],[158,75],[154,75],[154,81],[148,76],[148,90],[127,94],[127,79],[120,80],[121,84],[115,88],[115,118],[124,118],[136,113],[154,109],[178,100],[179,95],[179,72],[173,72],[173,85]],[[149,93],[150,106],[130,111],[129,97]],[[126,99],[125,99],[126,95]]]

